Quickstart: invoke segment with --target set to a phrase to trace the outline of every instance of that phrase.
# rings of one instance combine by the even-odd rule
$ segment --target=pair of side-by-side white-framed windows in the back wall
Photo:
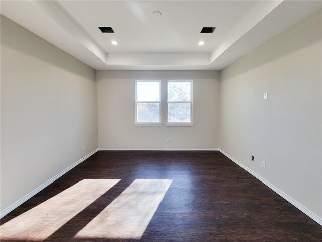
[[[161,100],[165,93],[167,126],[192,126],[192,81],[168,81],[167,91],[161,89],[161,81],[135,82],[135,125],[162,125]]]

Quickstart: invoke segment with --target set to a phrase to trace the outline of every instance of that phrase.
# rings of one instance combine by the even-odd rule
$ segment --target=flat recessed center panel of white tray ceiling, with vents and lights
[[[210,53],[257,2],[58,1],[58,5],[107,53]],[[162,15],[153,16],[155,10]],[[115,33],[102,34],[98,26],[111,26]],[[202,27],[217,29],[201,34]],[[199,46],[200,40],[206,44]]]

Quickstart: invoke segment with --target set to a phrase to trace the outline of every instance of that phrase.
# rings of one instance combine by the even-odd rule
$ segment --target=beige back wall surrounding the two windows
[[[99,147],[216,148],[219,128],[217,71],[97,71]],[[161,80],[161,127],[135,122],[135,80]],[[167,127],[167,80],[193,80],[193,127]],[[167,142],[167,138],[170,142]]]

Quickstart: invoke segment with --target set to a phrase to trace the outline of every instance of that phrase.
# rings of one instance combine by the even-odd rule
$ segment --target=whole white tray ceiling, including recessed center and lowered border
[[[283,0],[0,4],[1,14],[97,70],[221,70],[322,8],[322,1]]]

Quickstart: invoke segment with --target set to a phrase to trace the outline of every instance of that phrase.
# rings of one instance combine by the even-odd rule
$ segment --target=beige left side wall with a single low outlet
[[[98,148],[95,75],[1,16],[1,210]]]

